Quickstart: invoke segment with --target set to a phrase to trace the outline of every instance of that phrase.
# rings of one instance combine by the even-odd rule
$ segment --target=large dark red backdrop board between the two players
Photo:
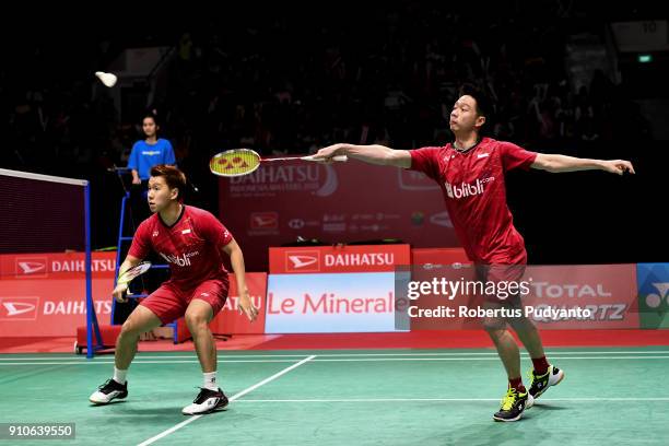
[[[298,236],[459,246],[439,186],[416,172],[355,161],[267,163],[250,175],[221,178],[219,196],[221,221],[257,271],[268,268],[268,246]]]

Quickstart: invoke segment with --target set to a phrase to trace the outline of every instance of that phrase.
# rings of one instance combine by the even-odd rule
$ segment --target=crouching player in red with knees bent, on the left
[[[258,308],[248,295],[244,256],[232,234],[211,213],[183,203],[186,176],[176,167],[156,165],[149,179],[149,208],[153,215],[144,220],[120,271],[138,265],[150,250],[169,263],[171,278],[134,308],[116,342],[114,377],[91,395],[96,404],[106,404],[128,396],[126,374],[137,353],[141,333],[185,316],[192,333],[204,384],[192,404],[183,409],[187,415],[209,413],[227,404],[216,384],[216,348],[209,321],[227,298],[228,279],[223,255],[230,256],[239,290],[239,309],[255,320]],[[128,285],[114,290],[117,302],[125,302]]]

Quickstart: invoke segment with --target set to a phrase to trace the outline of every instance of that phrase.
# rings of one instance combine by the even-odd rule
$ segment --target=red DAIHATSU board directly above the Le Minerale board
[[[386,272],[409,266],[409,245],[270,248],[270,273]]]

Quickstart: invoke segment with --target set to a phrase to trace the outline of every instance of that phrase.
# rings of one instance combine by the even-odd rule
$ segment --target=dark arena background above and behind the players
[[[8,14],[0,167],[91,180],[99,248],[116,245],[122,196],[108,169],[126,165],[148,109],[157,111],[162,136],[199,189],[190,202],[216,213],[212,154],[236,146],[306,153],[357,143],[363,129],[366,143],[442,144],[451,138],[443,110],[459,84],[474,82],[494,92],[489,136],[544,153],[627,159],[637,172],[512,173],[508,201],[531,262],[666,261],[669,55],[648,51],[653,62],[638,63],[636,54],[618,50],[610,24],[668,14],[659,3],[632,3],[110,5]],[[126,85],[119,107],[93,73],[114,71],[127,48],[156,46],[172,48],[171,56]],[[588,48],[609,66],[573,60],[574,50],[587,56]],[[657,107],[644,107],[648,101]]]

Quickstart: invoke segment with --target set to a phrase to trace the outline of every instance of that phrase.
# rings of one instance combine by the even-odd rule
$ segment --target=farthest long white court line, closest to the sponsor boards
[[[647,350],[647,351],[548,351],[548,356],[561,355],[561,354],[669,354],[669,350]],[[48,354],[48,353],[47,353]],[[255,357],[303,357],[307,353],[303,354],[220,354],[219,359],[255,359]],[[319,357],[357,357],[357,356],[496,356],[495,351],[489,352],[411,352],[411,353],[318,353]],[[520,352],[521,356],[527,356],[527,352]],[[109,360],[111,355],[95,356],[94,361]],[[142,354],[139,353],[137,360],[188,360],[196,359],[196,355],[154,355],[154,354]],[[64,359],[64,357],[63,357]],[[52,357],[31,357],[31,356],[19,356],[19,357],[0,357],[0,361],[55,361]],[[67,357],[66,361],[89,361],[85,356]]]

